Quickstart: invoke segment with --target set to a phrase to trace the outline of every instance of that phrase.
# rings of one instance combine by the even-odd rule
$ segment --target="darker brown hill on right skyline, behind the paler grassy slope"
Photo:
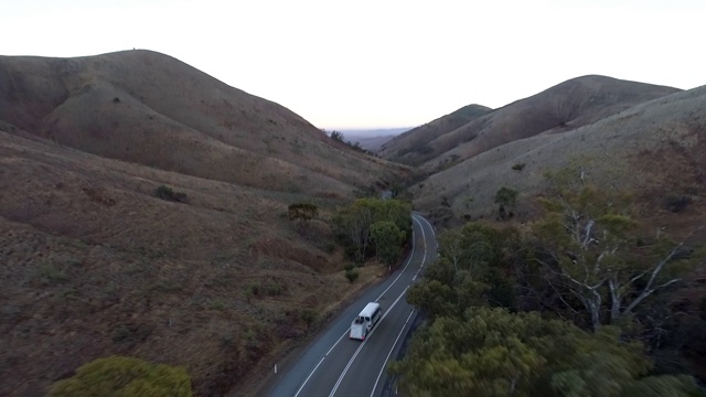
[[[427,141],[420,147],[422,150],[408,153],[408,163],[420,165],[426,172],[438,171],[503,143],[576,129],[676,92],[605,76],[577,77]]]

